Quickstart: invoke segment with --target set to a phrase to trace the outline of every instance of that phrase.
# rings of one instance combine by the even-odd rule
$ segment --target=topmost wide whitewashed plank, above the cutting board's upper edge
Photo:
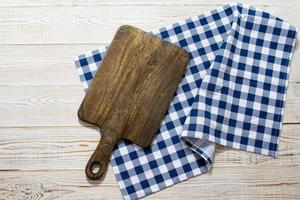
[[[298,5],[258,7],[300,27]],[[123,24],[150,31],[215,8],[215,5],[1,7],[0,44],[107,43]]]

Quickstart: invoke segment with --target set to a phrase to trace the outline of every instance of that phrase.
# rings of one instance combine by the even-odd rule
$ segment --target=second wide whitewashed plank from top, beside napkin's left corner
[[[0,45],[0,85],[79,85],[73,57],[103,45]],[[297,48],[290,83],[300,83],[299,67]]]

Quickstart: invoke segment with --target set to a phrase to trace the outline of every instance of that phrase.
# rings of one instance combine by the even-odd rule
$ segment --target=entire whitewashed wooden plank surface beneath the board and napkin
[[[243,1],[300,30],[298,0]],[[99,140],[77,119],[74,55],[116,29],[152,30],[222,0],[0,0],[0,199],[121,199],[111,167],[101,185],[84,168]],[[209,173],[144,199],[300,199],[300,50],[291,68],[277,159],[217,147]]]

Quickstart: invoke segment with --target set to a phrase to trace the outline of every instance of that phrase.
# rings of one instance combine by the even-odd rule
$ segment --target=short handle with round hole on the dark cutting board
[[[101,129],[99,144],[85,168],[85,174],[89,179],[97,180],[104,175],[117,141],[116,134],[107,129]]]

